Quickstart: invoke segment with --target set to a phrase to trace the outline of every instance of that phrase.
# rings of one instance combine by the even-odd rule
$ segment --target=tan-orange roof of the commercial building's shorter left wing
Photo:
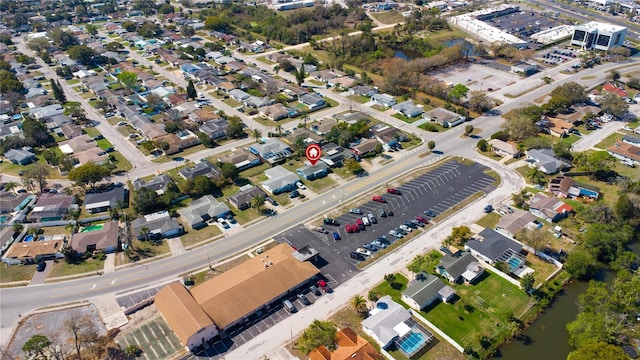
[[[187,346],[189,338],[200,329],[213,325],[191,297],[189,291],[179,282],[171,283],[158,291],[155,303],[165,321],[173,329],[182,345]]]

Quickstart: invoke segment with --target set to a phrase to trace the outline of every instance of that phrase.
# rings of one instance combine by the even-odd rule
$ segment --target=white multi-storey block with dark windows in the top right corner
[[[576,25],[571,37],[571,45],[586,50],[607,51],[614,46],[622,46],[627,28],[624,26],[591,21]]]

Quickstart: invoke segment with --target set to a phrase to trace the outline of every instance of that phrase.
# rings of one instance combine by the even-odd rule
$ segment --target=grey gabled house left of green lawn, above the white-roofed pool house
[[[454,295],[455,291],[437,276],[419,272],[402,292],[402,301],[410,308],[420,311],[438,299],[445,303],[451,301]]]

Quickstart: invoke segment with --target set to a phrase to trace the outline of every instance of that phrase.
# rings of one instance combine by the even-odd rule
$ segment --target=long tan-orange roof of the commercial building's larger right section
[[[319,273],[313,264],[294,259],[292,252],[289,245],[280,244],[195,286],[191,294],[224,329]]]

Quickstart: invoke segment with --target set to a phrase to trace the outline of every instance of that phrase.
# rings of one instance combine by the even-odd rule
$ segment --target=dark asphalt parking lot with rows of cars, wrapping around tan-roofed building
[[[377,224],[366,226],[366,229],[359,233],[347,234],[344,225],[354,223],[355,219],[362,217],[362,215],[344,213],[336,219],[339,226],[324,226],[327,233],[309,229],[304,225],[297,225],[278,234],[274,239],[278,243],[287,243],[297,249],[306,245],[316,249],[319,255],[312,262],[320,269],[329,286],[335,289],[340,283],[360,271],[356,267],[358,261],[350,258],[349,253],[362,247],[363,243],[370,242],[382,235],[386,235],[389,241],[394,241],[396,239],[389,236],[389,230],[415,218],[416,215],[424,216],[424,210],[430,209],[436,214],[441,214],[478,191],[492,191],[491,184],[494,179],[484,174],[484,170],[485,167],[479,164],[466,166],[456,161],[450,161],[398,186],[397,189],[402,192],[402,195],[382,194],[387,201],[386,203],[367,201],[359,205],[358,207],[365,215],[373,213],[378,221]],[[370,194],[370,196],[374,195],[381,194]],[[380,217],[377,212],[378,208],[383,208],[386,211],[392,210],[394,215],[386,218]],[[347,210],[345,209],[345,212]],[[436,217],[436,220],[439,218]],[[333,232],[338,232],[341,239],[335,240]],[[373,254],[372,256],[377,255]],[[319,297],[325,296],[311,294],[308,286],[305,286],[302,292],[312,303]],[[298,293],[300,292],[292,293],[288,300],[296,308],[301,309],[305,305],[296,298]],[[214,341],[209,341],[204,347],[184,359],[221,359],[228,351],[243,345],[288,316],[291,314],[282,307],[281,301],[277,301],[276,305],[266,307],[262,312],[252,315],[242,325],[230,330],[228,334],[222,334]]]

